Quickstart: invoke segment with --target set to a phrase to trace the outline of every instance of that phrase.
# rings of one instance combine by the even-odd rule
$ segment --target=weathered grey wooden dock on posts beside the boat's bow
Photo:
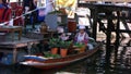
[[[22,37],[21,40],[8,40],[0,42],[0,52],[3,53],[13,53],[13,62],[16,63],[16,54],[19,51],[19,48],[27,47],[27,52],[29,53],[29,48],[33,44],[39,44],[40,39],[32,39],[32,38],[25,38]]]

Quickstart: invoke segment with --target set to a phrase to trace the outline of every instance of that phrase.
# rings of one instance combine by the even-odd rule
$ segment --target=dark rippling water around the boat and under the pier
[[[123,40],[115,52],[110,47],[111,55],[107,63],[105,60],[105,46],[93,57],[68,65],[63,69],[38,70],[24,65],[2,66],[0,74],[131,74],[131,40]]]

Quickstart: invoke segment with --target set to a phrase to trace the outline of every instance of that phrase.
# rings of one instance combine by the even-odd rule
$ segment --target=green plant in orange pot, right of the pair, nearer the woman
[[[71,41],[61,40],[60,41],[60,55],[66,57],[68,54],[68,48],[70,47]]]

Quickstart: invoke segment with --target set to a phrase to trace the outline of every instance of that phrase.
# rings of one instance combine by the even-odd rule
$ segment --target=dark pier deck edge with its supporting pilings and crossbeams
[[[96,40],[96,35],[97,35],[97,23],[100,22],[99,21],[99,13],[105,13],[104,18],[107,20],[107,28],[104,28],[105,34],[107,35],[106,38],[106,48],[108,49],[108,47],[110,46],[110,36],[111,33],[115,32],[116,33],[116,44],[115,46],[119,46],[119,39],[120,39],[120,33],[124,32],[124,33],[130,33],[131,30],[127,30],[127,29],[120,29],[120,21],[121,21],[121,16],[120,12],[121,11],[127,11],[129,9],[131,9],[130,7],[123,7],[123,5],[114,5],[114,4],[91,4],[91,3],[79,3],[79,7],[84,7],[84,8],[88,8],[91,10],[91,14],[92,14],[92,18],[93,18],[93,34],[92,37]],[[114,15],[114,12],[116,12],[116,16]],[[103,17],[102,17],[103,20]],[[117,20],[117,24],[115,26],[115,24],[112,23],[112,20]],[[100,25],[102,26],[102,25]]]

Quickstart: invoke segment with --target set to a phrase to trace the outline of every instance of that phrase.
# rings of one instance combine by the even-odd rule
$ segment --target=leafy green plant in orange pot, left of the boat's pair
[[[51,48],[51,53],[57,54],[58,53],[58,38],[51,38],[49,40],[49,47]]]

